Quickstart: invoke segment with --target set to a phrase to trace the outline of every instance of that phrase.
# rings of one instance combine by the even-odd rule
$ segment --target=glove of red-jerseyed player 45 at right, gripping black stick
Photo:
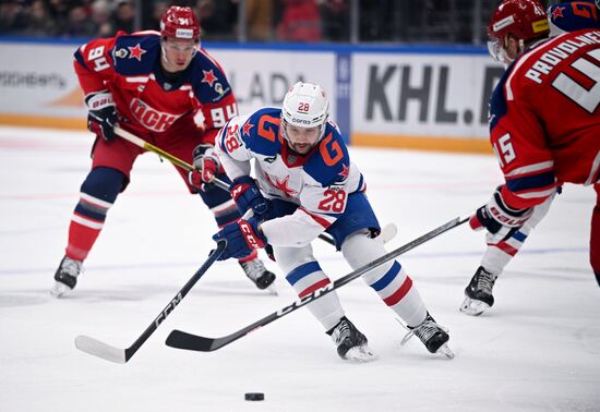
[[[515,210],[509,208],[496,187],[490,202],[477,209],[469,225],[473,230],[488,229],[488,244],[496,244],[511,238],[531,217],[533,208]]]

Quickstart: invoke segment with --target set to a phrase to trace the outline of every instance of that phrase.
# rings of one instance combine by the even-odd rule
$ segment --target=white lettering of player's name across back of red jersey
[[[581,47],[600,44],[600,31],[588,32],[567,40],[564,40],[565,36],[568,35],[557,37],[556,40],[553,41],[554,44],[557,43],[556,46],[541,54],[538,60],[531,64],[531,68],[525,73],[527,78],[537,84],[541,84],[545,80],[545,76],[552,72],[552,69]],[[590,54],[595,59],[600,60],[600,51],[598,51],[598,49],[590,52]]]

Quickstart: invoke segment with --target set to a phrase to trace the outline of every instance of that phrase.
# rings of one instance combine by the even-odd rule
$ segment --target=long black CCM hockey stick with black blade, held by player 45
[[[451,230],[451,229],[454,229],[463,223],[465,223],[467,220],[469,220],[468,217],[457,217],[451,221],[448,221],[447,223],[444,223],[442,225],[441,227],[436,228],[436,229],[433,229],[432,231],[421,235],[420,238],[417,238],[415,239],[412,242],[410,243],[407,243],[405,244],[404,246],[400,246],[385,255],[383,255],[382,257],[356,269],[356,270],[352,270],[351,272],[349,272],[348,275],[337,279],[336,281],[334,281],[333,283],[329,283],[328,286],[326,286],[325,288],[323,289],[319,289],[319,290],[315,290],[314,292],[312,292],[311,294],[308,294],[305,295],[304,298],[293,302],[292,304],[288,305],[288,306],[285,306],[283,308],[280,308],[279,311],[275,312],[275,313],[272,313],[271,315],[268,316],[265,316],[263,317],[262,319],[260,320],[256,320],[255,323],[253,323],[252,325],[249,325],[238,331],[235,331],[233,334],[230,334],[230,335],[227,335],[227,336],[224,336],[224,337],[220,337],[220,338],[206,338],[206,337],[203,337],[203,336],[197,336],[197,335],[192,335],[192,334],[188,334],[188,332],[184,332],[184,331],[181,331],[181,330],[172,330],[169,336],[167,337],[167,341],[166,341],[166,344],[171,347],[171,348],[178,348],[178,349],[188,349],[188,350],[192,350],[192,351],[201,351],[201,352],[212,352],[212,351],[215,351],[219,348],[223,348],[238,339],[240,339],[241,337],[263,327],[263,326],[266,326],[268,324],[271,324],[272,322],[275,322],[290,313],[292,313],[293,311],[296,311],[297,308],[310,303],[310,302],[313,302],[322,296],[324,296],[325,294],[336,290],[336,289],[339,289],[341,288],[344,284],[355,280],[356,278],[362,276],[363,274],[368,272],[369,270],[377,267],[377,266],[381,266],[383,265],[384,263],[395,258],[396,256],[398,255],[401,255],[403,253],[405,252],[408,252],[410,251],[411,249],[415,249],[417,246],[419,246],[420,244],[423,244],[428,241],[430,241],[431,239]]]

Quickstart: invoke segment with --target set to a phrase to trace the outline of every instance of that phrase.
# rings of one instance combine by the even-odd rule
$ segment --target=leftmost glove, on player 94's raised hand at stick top
[[[117,109],[108,90],[97,92],[85,97],[87,105],[87,129],[105,141],[115,138]]]

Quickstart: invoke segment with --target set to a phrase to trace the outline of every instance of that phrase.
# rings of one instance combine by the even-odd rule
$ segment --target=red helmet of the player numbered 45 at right
[[[514,36],[524,48],[525,43],[549,33],[548,14],[538,0],[504,0],[490,20],[488,48],[494,59],[503,61],[507,35]]]

